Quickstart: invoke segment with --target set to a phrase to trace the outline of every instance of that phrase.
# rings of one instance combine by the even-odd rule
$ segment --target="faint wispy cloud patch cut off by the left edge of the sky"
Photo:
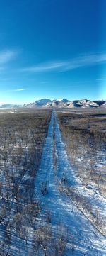
[[[15,50],[0,51],[0,65],[4,65],[7,62],[10,62],[16,57],[17,54],[18,52],[16,52]]]

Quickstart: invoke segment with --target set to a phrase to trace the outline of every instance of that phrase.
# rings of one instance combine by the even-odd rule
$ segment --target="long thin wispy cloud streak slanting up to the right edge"
[[[82,55],[81,57],[66,61],[46,62],[33,67],[25,67],[21,69],[21,71],[35,73],[50,71],[66,72],[79,67],[101,64],[102,62],[106,62],[106,53],[97,55]]]

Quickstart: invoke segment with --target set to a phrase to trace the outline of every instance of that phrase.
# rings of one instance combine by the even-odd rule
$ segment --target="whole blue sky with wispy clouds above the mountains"
[[[105,0],[1,0],[0,104],[106,99]]]

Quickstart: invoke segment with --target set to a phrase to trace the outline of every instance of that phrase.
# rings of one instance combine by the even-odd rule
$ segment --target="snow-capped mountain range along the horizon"
[[[68,99],[40,99],[30,104],[13,105],[3,104],[0,108],[97,108],[105,107],[106,101],[90,101],[88,99],[70,101]]]

